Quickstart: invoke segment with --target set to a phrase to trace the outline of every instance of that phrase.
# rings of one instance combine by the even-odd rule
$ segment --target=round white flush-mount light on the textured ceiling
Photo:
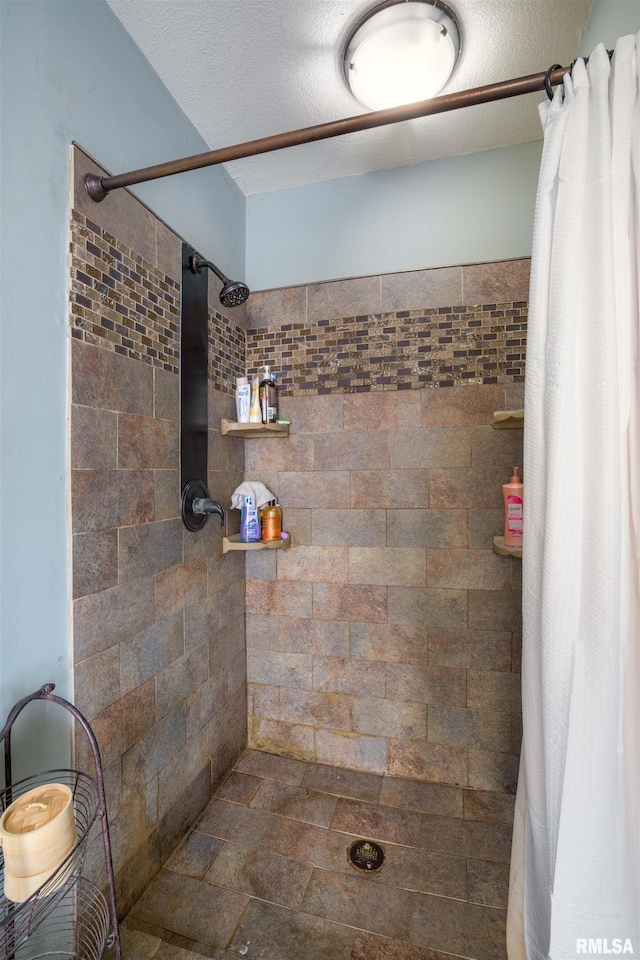
[[[344,75],[371,110],[435,97],[460,56],[460,25],[440,0],[384,0],[352,30]]]

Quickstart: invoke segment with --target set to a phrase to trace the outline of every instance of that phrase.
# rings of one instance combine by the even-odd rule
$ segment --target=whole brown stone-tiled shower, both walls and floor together
[[[492,413],[522,406],[528,261],[257,293],[230,316],[210,281],[209,488],[228,506],[261,480],[293,544],[245,563],[179,518],[181,241],[125,192],[91,204],[74,160],[75,702],[131,956],[499,960],[521,573],[492,541],[522,433]],[[222,438],[263,362],[289,439]],[[343,857],[358,836],[395,854],[375,880]],[[299,883],[279,895],[282,869]],[[229,923],[187,930],[167,891],[228,902]],[[323,924],[330,952],[305,952]]]

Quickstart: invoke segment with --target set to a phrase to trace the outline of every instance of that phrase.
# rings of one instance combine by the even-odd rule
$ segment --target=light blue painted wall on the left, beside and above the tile
[[[104,0],[2,0],[0,16],[3,722],[12,703],[44,681],[69,694],[71,141],[114,173],[207,145]],[[205,256],[244,276],[245,199],[222,169],[145,184],[137,193]],[[54,719],[30,732],[37,747],[29,763],[64,755],[62,729]]]

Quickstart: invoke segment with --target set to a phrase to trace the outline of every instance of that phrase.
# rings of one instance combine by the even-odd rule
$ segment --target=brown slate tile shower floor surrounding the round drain
[[[248,750],[122,926],[125,960],[504,960],[513,797]],[[354,839],[385,862],[363,873]]]

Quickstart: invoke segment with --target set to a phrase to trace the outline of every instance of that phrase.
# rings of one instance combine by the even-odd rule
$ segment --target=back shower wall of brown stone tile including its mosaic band
[[[248,364],[287,440],[246,441],[288,551],[247,558],[250,744],[513,792],[521,561],[492,552],[522,431],[529,261],[257,294]],[[526,478],[525,478],[526,479]]]

